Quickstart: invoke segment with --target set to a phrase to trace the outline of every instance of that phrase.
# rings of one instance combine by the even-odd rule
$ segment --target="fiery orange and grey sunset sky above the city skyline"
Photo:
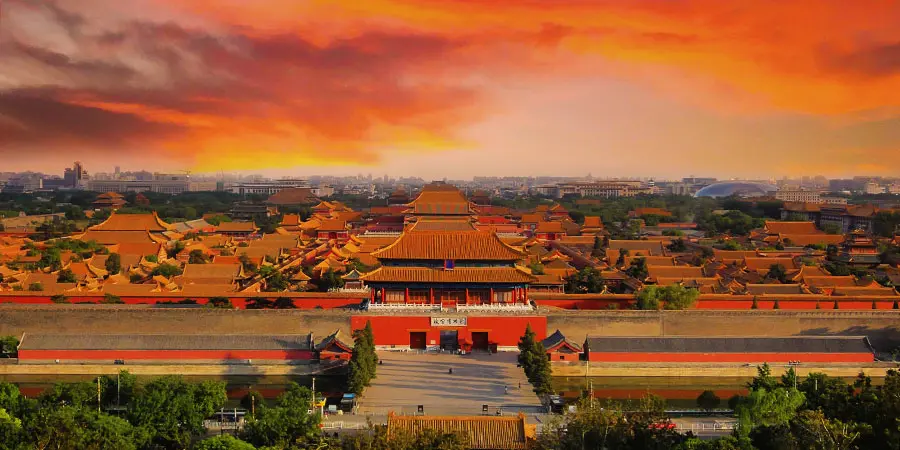
[[[0,171],[900,176],[896,0],[0,0]]]

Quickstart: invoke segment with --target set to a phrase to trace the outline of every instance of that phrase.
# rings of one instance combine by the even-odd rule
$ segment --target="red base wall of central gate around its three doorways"
[[[441,316],[435,314],[435,316]],[[429,316],[352,316],[350,328],[358,330],[366,327],[366,322],[372,322],[372,331],[375,334],[375,345],[396,345],[398,348],[408,348],[410,332],[425,332],[425,341],[428,345],[438,345],[441,340],[441,330],[456,330],[488,333],[488,340],[500,347],[514,347],[519,338],[525,334],[525,327],[531,325],[536,339],[547,337],[547,318],[544,316],[469,316],[465,327],[432,327]],[[434,341],[434,344],[431,342]]]

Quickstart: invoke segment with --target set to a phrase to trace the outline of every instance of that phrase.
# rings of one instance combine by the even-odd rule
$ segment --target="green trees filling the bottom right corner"
[[[851,450],[900,448],[900,373],[889,371],[881,386],[860,375],[848,383],[813,373],[799,380],[793,370],[773,377],[758,368],[749,394],[732,397],[738,424],[732,435],[701,440],[668,424],[664,402],[648,395],[637,402],[600,407],[582,399],[574,413],[544,424],[541,450]],[[711,391],[697,399],[705,410],[721,400]],[[556,430],[555,432],[553,430]]]

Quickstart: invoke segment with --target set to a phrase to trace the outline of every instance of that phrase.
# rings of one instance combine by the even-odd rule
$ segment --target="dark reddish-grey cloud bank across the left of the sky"
[[[5,130],[6,143],[52,142],[65,136],[111,145],[188,130],[74,106],[69,104],[73,99],[241,118],[246,127],[267,134],[280,133],[271,121],[286,121],[326,139],[363,142],[377,123],[448,132],[461,121],[455,111],[477,97],[471,88],[440,80],[452,70],[450,61],[458,60],[450,56],[469,45],[465,40],[369,32],[321,46],[301,34],[259,37],[238,30],[223,36],[140,21],[86,33],[91,27],[87,15],[58,7],[52,11],[85,51],[73,57],[32,42],[7,42],[16,56],[12,64],[27,63],[36,73],[53,74],[58,85],[41,86],[38,95],[5,95],[0,112],[24,124],[18,131]],[[21,82],[23,89],[36,88],[27,79]]]

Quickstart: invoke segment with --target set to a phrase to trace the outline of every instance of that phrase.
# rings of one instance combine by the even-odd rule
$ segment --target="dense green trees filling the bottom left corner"
[[[189,448],[225,401],[224,382],[167,376],[139,386],[125,371],[56,384],[34,399],[0,383],[0,449]],[[101,412],[116,406],[120,415]]]

